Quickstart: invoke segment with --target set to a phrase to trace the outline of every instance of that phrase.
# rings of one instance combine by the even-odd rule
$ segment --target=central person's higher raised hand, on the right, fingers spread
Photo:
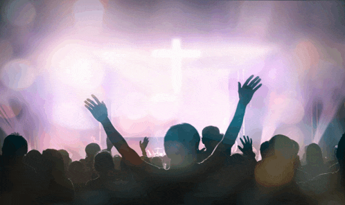
[[[257,91],[262,85],[258,85],[261,81],[259,77],[254,78],[254,80],[251,80],[252,78],[254,78],[254,75],[251,75],[242,87],[241,83],[238,82],[238,95],[240,96],[240,102],[243,103],[243,105],[248,105],[251,98],[253,98],[255,91]],[[249,82],[250,80],[251,82]]]

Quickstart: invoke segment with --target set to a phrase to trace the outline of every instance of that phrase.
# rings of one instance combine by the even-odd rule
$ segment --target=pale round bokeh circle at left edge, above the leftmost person
[[[3,66],[0,71],[1,82],[6,87],[20,91],[30,87],[35,81],[36,71],[28,60],[12,60]]]

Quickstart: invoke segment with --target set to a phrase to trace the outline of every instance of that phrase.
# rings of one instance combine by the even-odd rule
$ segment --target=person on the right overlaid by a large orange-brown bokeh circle
[[[268,143],[265,157],[255,168],[257,204],[310,204],[297,186],[302,174],[295,167],[296,143],[281,134],[273,136]]]

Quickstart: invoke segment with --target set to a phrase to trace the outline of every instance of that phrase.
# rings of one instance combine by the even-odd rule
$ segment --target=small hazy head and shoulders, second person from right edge
[[[328,172],[319,145],[315,143],[308,145],[306,150],[306,165],[302,166],[302,170],[310,174],[312,178]]]

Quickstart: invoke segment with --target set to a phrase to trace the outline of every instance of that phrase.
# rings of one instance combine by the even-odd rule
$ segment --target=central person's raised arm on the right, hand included
[[[240,82],[238,82],[238,95],[240,100],[238,101],[235,115],[233,116],[233,119],[227,129],[227,132],[225,132],[223,139],[223,144],[227,150],[231,150],[231,147],[233,144],[235,144],[238,133],[242,127],[243,118],[245,117],[245,109],[255,91],[257,91],[262,85],[258,85],[258,83],[261,81],[259,77],[254,78],[254,80],[251,80],[252,78],[254,78],[254,75],[251,75],[242,87]],[[249,83],[250,80],[251,82]]]

